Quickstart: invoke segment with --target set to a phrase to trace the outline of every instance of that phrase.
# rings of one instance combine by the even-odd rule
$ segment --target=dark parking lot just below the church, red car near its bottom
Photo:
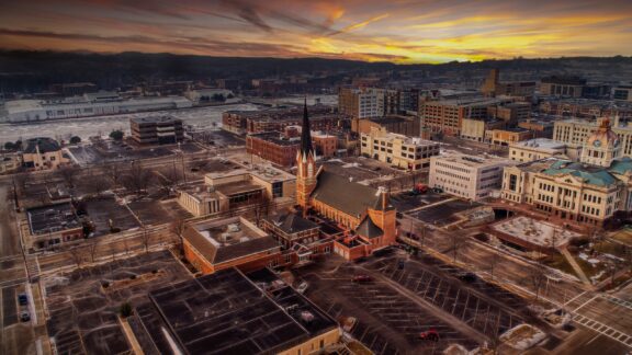
[[[351,264],[332,274],[302,268],[298,276],[311,285],[307,297],[329,316],[357,318],[351,334],[375,354],[439,354],[452,343],[467,348],[479,344],[481,340],[458,330],[437,310],[422,307],[377,278],[353,283],[351,277],[362,272]],[[437,331],[439,341],[419,337],[428,331]]]

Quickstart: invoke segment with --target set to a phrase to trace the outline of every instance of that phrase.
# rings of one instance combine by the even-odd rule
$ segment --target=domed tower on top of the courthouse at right
[[[580,161],[592,165],[610,167],[612,160],[620,157],[619,137],[610,128],[610,119],[606,118],[584,142]]]

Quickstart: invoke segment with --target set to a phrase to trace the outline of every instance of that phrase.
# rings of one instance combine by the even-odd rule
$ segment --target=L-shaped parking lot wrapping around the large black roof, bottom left
[[[58,354],[131,352],[117,319],[121,305],[146,302],[149,290],[189,277],[165,251],[45,278],[48,335]]]

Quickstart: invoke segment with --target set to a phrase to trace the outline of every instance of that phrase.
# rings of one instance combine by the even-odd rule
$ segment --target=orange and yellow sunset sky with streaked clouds
[[[632,1],[0,0],[0,47],[444,62],[632,55]]]

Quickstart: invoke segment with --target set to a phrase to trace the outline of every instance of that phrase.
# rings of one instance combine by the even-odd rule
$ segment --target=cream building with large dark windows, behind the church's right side
[[[406,170],[430,165],[430,157],[439,156],[440,145],[421,138],[388,133],[373,128],[360,135],[360,153]]]

